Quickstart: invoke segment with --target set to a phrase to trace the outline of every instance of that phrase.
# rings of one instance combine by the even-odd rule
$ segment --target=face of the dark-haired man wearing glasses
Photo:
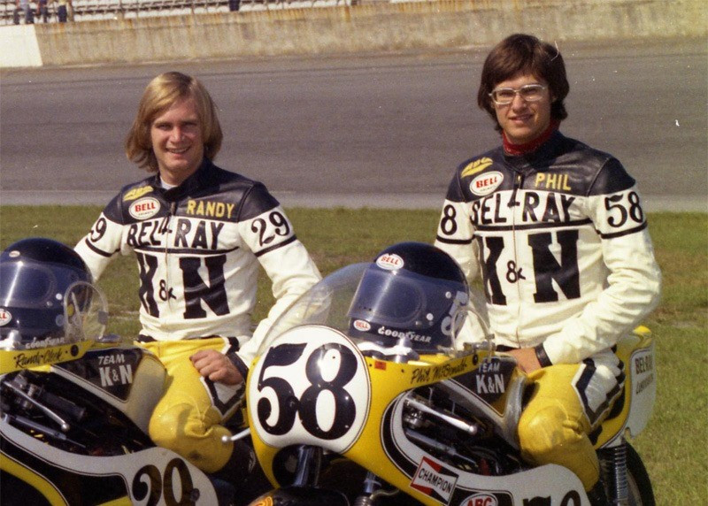
[[[533,75],[522,74],[496,83],[495,88],[519,89],[527,84],[546,86],[548,83]],[[535,141],[550,125],[551,102],[550,88],[546,88],[543,90],[543,97],[537,102],[527,102],[517,93],[512,103],[495,105],[496,120],[504,130],[507,140],[512,144]]]

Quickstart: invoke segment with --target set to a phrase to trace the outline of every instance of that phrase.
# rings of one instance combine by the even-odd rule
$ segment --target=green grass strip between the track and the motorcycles
[[[0,247],[29,236],[73,245],[99,207],[0,206]],[[432,242],[438,211],[345,209],[288,211],[298,237],[323,274],[371,259],[399,241]],[[664,277],[662,303],[650,316],[657,340],[658,399],[645,432],[634,441],[659,505],[704,504],[708,498],[708,215],[655,213],[650,234]],[[255,318],[273,303],[265,279]],[[111,332],[136,334],[137,274],[132,257],[117,259],[99,283],[108,295]]]

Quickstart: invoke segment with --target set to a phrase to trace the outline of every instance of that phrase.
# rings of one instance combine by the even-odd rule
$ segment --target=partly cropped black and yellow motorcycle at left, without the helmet
[[[212,481],[150,441],[165,369],[116,336],[0,351],[2,503],[218,503]]]

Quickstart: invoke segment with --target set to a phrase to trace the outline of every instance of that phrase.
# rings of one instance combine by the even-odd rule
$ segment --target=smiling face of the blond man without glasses
[[[204,134],[193,98],[181,98],[150,124],[150,142],[160,177],[179,185],[202,163]]]

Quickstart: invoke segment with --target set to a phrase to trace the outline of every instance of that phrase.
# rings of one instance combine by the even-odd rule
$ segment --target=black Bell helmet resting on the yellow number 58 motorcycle
[[[401,342],[418,353],[450,350],[466,317],[465,274],[442,249],[400,242],[383,249],[350,306],[350,335],[381,347]]]

